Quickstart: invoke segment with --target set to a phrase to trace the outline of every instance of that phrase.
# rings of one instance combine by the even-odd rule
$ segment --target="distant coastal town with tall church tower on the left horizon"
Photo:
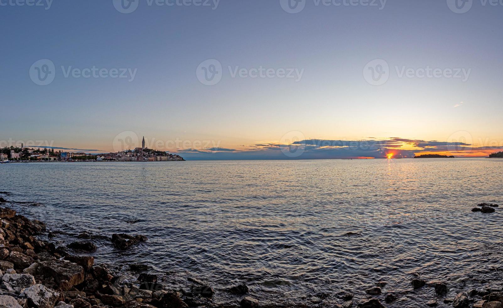
[[[119,152],[91,154],[85,152],[56,151],[54,148],[30,148],[10,146],[0,149],[0,163],[26,162],[181,162],[181,156],[145,146],[143,137],[141,147]]]

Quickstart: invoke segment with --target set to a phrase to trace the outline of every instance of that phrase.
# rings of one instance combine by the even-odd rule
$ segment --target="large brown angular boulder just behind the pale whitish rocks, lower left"
[[[77,285],[84,281],[83,267],[66,260],[40,262],[39,270],[46,277],[54,277],[58,283],[66,280],[72,285]]]

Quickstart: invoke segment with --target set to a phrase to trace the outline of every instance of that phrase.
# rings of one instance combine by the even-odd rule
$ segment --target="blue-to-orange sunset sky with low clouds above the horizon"
[[[0,0],[0,146],[485,157],[503,1],[465,1]]]

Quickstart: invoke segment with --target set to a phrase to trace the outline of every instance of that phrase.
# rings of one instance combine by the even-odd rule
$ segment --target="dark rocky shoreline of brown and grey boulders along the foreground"
[[[2,192],[0,192],[2,193]],[[7,193],[3,193],[7,195]],[[10,201],[0,197],[0,206]],[[480,204],[497,208],[496,204]],[[167,288],[157,275],[148,273],[144,264],[129,264],[137,278],[129,282],[105,264],[96,264],[89,256],[97,247],[89,241],[92,235],[82,232],[78,240],[65,246],[56,245],[54,234],[44,222],[30,220],[8,207],[0,207],[0,307],[9,308],[185,308],[185,307],[286,307],[264,304],[249,295],[245,284],[215,291],[210,285],[188,278],[190,288]],[[47,238],[47,240],[44,240]],[[118,250],[147,241],[142,235],[114,234],[111,242]],[[83,255],[80,255],[83,254]],[[158,281],[159,280],[159,281]],[[386,305],[415,307],[401,292],[384,291],[387,283],[376,282],[364,290],[367,296],[357,299],[350,292],[327,294],[325,301],[313,303],[299,299],[296,307],[381,308]],[[431,288],[433,299],[427,306],[448,305],[454,308],[503,307],[503,281],[471,290],[456,290],[444,281],[426,281],[417,275],[410,281],[410,289]],[[233,303],[217,304],[215,292],[234,296]],[[402,300],[404,300],[402,302]],[[290,307],[290,306],[289,306]]]

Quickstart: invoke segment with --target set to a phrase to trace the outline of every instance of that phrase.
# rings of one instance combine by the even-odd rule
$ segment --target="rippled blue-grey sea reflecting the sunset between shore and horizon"
[[[214,302],[246,283],[263,303],[329,306],[340,290],[383,289],[424,306],[441,279],[452,294],[501,281],[503,160],[402,159],[41,163],[0,165],[10,206],[60,230],[65,243],[82,232],[142,234],[127,252],[97,238],[99,262],[152,266],[167,286],[188,277],[212,285]],[[503,204],[502,204],[503,205]],[[383,295],[384,295],[383,294]],[[443,306],[443,302],[439,302]],[[445,305],[447,306],[447,305]]]

